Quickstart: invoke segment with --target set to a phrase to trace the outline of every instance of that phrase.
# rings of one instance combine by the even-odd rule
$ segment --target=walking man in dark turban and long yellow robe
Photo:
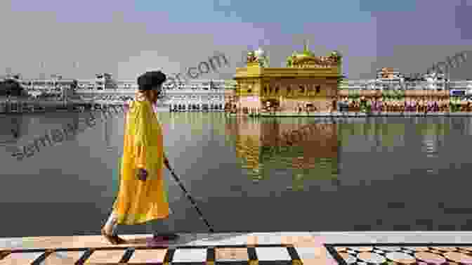
[[[125,243],[117,235],[117,225],[143,224],[169,217],[169,202],[164,182],[162,127],[153,106],[162,96],[162,72],[146,72],[138,77],[138,91],[125,114],[123,155],[119,167],[119,189],[102,235],[113,245]],[[157,237],[155,235],[155,237]],[[164,239],[175,234],[162,235]]]

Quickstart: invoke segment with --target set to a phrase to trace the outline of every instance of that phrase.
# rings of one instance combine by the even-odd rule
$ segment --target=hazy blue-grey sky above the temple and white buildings
[[[472,50],[471,14],[472,0],[1,0],[0,75],[136,79],[219,52],[230,65],[201,78],[230,79],[249,49],[282,67],[304,41],[317,56],[340,51],[350,79],[375,78],[381,67],[422,73]],[[471,75],[468,58],[452,79]]]

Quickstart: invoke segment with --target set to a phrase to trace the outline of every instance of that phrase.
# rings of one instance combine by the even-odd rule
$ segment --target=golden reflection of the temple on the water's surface
[[[337,125],[296,121],[238,119],[226,124],[242,168],[254,181],[268,179],[275,172],[287,172],[292,188],[301,190],[303,181],[308,179],[337,179]]]

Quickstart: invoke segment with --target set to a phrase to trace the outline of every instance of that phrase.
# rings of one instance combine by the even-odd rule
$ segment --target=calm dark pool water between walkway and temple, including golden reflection
[[[99,234],[124,124],[116,115],[86,127],[79,119],[88,115],[0,116],[1,237]],[[217,232],[472,230],[469,117],[159,119],[176,174]],[[67,123],[84,129],[21,161],[11,156]],[[165,177],[173,229],[206,232]]]

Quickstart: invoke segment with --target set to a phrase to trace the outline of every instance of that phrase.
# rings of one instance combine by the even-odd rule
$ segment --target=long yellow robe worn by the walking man
[[[123,155],[119,190],[113,204],[117,224],[141,224],[169,217],[169,202],[163,178],[162,127],[150,101],[131,101],[125,115]],[[147,170],[147,180],[136,178],[136,169]]]

